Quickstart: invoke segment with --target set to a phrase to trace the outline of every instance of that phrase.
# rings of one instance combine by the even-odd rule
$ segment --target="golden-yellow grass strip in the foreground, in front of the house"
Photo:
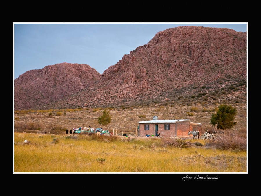
[[[99,141],[15,132],[14,172],[247,172],[247,152],[162,146],[155,138]]]

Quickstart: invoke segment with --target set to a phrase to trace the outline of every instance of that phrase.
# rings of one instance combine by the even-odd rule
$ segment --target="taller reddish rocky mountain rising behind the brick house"
[[[41,109],[246,102],[246,81],[246,32],[180,26],[158,32],[148,44],[124,55],[99,82],[83,88],[81,96],[71,92]]]

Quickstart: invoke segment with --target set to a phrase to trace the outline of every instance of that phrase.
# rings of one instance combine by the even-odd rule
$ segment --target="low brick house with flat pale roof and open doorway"
[[[189,131],[199,131],[201,136],[201,123],[190,122],[189,119],[184,120],[151,120],[140,121],[138,136],[154,135],[157,136],[157,131],[160,136],[165,137],[193,137],[188,135]]]

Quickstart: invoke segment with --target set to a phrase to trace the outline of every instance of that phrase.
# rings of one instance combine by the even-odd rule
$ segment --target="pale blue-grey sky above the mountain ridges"
[[[13,23],[14,79],[57,63],[88,64],[103,73],[124,54],[154,35],[177,26],[229,28],[246,32],[248,23]]]

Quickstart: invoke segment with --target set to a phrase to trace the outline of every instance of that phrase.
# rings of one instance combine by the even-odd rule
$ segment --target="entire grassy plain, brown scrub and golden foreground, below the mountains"
[[[159,120],[191,119],[202,123],[203,134],[211,129],[211,114],[217,107],[199,103],[193,107],[107,108],[112,117],[108,127],[97,121],[104,108],[14,111],[14,172],[247,172],[247,151],[205,146],[177,148],[164,145],[161,138],[136,137],[138,121],[152,120],[155,115]],[[246,105],[233,107],[238,112],[237,125],[230,131],[240,132],[246,138]],[[114,129],[115,136],[93,139],[89,135],[70,135],[73,127],[89,125],[110,132]],[[197,142],[205,144],[206,140]]]

